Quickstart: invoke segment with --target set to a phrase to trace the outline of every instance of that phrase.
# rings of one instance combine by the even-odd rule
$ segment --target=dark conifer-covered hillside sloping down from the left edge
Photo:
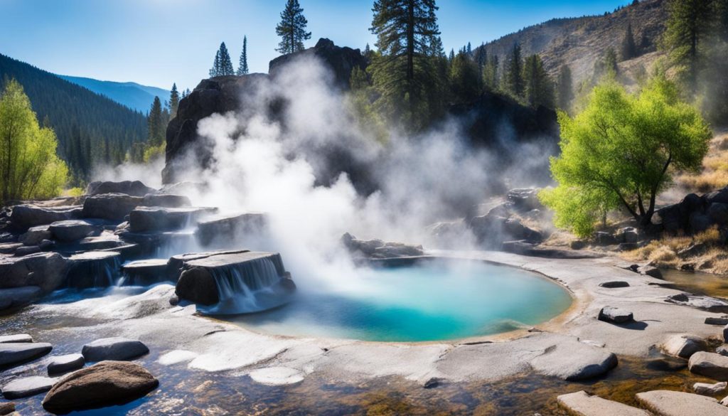
[[[41,125],[55,130],[58,154],[74,184],[86,181],[95,163],[116,165],[135,143],[146,141],[146,117],[50,72],[0,55],[0,84],[17,79]]]

